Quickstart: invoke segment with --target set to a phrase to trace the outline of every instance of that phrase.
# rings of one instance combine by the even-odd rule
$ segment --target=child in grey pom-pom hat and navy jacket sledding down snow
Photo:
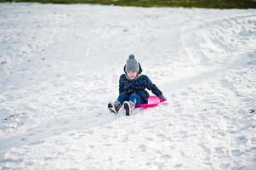
[[[134,54],[129,55],[123,71],[125,74],[122,74],[119,79],[119,96],[117,101],[108,104],[111,112],[117,114],[123,105],[126,116],[130,116],[135,105],[147,104],[150,94],[145,88],[151,90],[159,98],[166,100],[162,92],[151,82],[149,77],[141,75],[142,69]]]

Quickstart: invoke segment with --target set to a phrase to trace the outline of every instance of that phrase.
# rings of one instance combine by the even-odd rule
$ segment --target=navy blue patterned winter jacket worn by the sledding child
[[[153,94],[160,97],[162,92],[153,84],[149,77],[141,75],[137,80],[130,81],[122,74],[119,79],[119,94],[138,94],[145,102],[148,102],[150,94],[145,88],[151,90]]]

